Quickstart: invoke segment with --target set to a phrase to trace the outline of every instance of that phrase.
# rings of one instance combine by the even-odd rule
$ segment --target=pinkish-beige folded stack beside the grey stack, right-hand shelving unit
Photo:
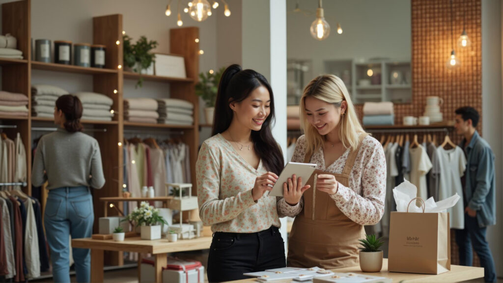
[[[135,123],[157,123],[157,101],[151,98],[124,99],[124,120]]]

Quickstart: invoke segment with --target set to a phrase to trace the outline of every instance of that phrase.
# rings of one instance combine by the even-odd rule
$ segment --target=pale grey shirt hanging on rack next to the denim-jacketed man
[[[447,212],[450,214],[451,228],[464,229],[465,208],[463,206],[461,177],[466,169],[465,154],[460,147],[451,150],[438,147],[437,154],[442,169],[440,173],[439,200],[446,199],[456,193],[461,197],[456,205],[447,209]]]

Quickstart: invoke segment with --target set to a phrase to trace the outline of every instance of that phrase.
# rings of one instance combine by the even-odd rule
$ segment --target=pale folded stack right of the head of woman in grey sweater
[[[110,112],[114,101],[103,94],[94,92],[77,92],[73,94],[82,103],[82,120],[112,121]]]

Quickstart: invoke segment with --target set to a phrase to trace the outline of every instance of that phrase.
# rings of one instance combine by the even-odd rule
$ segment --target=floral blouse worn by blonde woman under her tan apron
[[[318,165],[316,169],[341,174],[350,150],[334,163],[325,167],[323,149],[318,149],[312,156],[310,163]],[[302,135],[297,139],[292,162],[304,162],[306,153],[306,139]],[[355,164],[349,177],[349,187],[339,183],[337,193],[330,195],[334,204],[352,221],[361,225],[374,225],[384,214],[384,198],[386,194],[386,158],[384,150],[377,139],[368,135],[363,139],[358,150]],[[297,205],[292,206],[283,198],[278,200],[278,214],[280,217],[295,217],[302,211],[304,197]]]

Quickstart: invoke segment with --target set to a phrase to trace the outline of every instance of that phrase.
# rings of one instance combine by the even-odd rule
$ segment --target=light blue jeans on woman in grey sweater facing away
[[[88,187],[52,189],[44,213],[45,233],[51,249],[54,282],[70,282],[70,245],[72,239],[89,238],[93,233],[93,196]],[[91,251],[73,248],[77,282],[91,280]]]

